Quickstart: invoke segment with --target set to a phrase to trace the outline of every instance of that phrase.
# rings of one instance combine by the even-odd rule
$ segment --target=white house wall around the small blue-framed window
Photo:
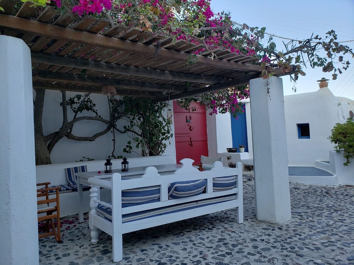
[[[315,160],[329,160],[333,145],[327,138],[340,122],[336,97],[325,87],[312,93],[285,96],[284,101],[289,165],[314,166]],[[310,139],[298,139],[300,123],[309,124]]]

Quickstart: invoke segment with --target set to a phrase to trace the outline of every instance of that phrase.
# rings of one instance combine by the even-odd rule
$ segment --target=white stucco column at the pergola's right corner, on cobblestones
[[[252,79],[250,101],[256,217],[282,224],[291,219],[282,79]]]

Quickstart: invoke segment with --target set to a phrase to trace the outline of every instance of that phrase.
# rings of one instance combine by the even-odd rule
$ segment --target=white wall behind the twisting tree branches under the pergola
[[[67,92],[67,99],[79,94],[74,92]],[[35,95],[35,92],[34,92]],[[96,104],[96,109],[98,110],[99,115],[104,119],[109,118],[109,109],[107,96],[101,94],[91,94],[90,98]],[[55,90],[46,90],[44,107],[43,107],[43,132],[44,135],[48,135],[57,131],[63,120],[62,107],[59,103],[62,101],[62,96],[59,91]],[[173,110],[172,101],[170,102],[170,108]],[[167,115],[167,111],[164,112],[164,115]],[[68,119],[71,120],[74,116],[74,113],[68,108]],[[80,116],[95,116],[91,112],[82,112],[79,113]],[[172,117],[173,118],[173,117]],[[125,124],[123,120],[118,121],[118,128],[123,130],[122,126]],[[77,136],[92,136],[99,131],[102,131],[106,126],[102,122],[93,121],[93,120],[82,120],[77,122],[74,125],[73,134]],[[171,126],[172,133],[174,134],[175,126]],[[112,133],[107,133],[103,136],[98,137],[95,141],[75,141],[69,140],[66,137],[61,139],[53,148],[51,153],[51,160],[53,164],[56,163],[68,163],[79,161],[82,157],[93,158],[96,160],[105,159],[112,153],[113,150],[113,135]],[[129,157],[138,157],[136,153],[127,154],[122,150],[127,145],[129,139],[127,134],[120,134],[116,132],[116,147],[115,155],[123,155],[127,158]],[[165,151],[165,154],[170,154],[176,156],[176,144],[175,137],[171,138],[171,144]],[[134,147],[134,145],[132,145]],[[136,150],[136,149],[133,149]],[[139,150],[137,153],[140,154]]]

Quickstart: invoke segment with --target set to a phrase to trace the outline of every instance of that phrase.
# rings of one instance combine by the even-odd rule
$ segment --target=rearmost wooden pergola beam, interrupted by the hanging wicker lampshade
[[[50,89],[50,90],[59,90],[59,91],[71,91],[78,93],[94,93],[101,94],[102,88],[98,87],[87,87],[87,86],[70,86],[63,84],[50,84],[50,83],[41,83],[41,82],[33,82],[33,88],[41,88],[41,89]],[[129,91],[126,89],[116,89],[117,94],[121,96],[136,96],[136,97],[147,97],[147,98],[157,98],[161,96],[160,93],[149,93],[149,92],[141,92],[141,91]]]

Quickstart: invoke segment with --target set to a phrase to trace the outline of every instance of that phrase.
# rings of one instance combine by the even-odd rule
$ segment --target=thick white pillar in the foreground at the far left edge
[[[39,264],[31,54],[0,36],[1,264]]]

